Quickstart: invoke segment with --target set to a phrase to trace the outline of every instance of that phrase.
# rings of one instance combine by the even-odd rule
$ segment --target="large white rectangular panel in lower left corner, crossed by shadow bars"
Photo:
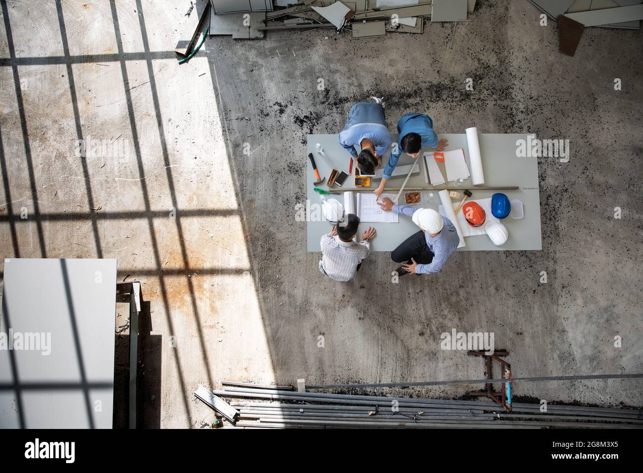
[[[111,428],[115,259],[5,259],[0,428]]]

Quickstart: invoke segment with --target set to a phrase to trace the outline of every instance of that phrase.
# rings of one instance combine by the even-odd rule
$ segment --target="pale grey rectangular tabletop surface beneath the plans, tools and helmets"
[[[394,140],[397,135],[393,135]],[[541,233],[540,233],[540,198],[538,194],[538,161],[536,157],[518,158],[516,157],[516,148],[518,140],[527,140],[528,134],[479,134],[480,139],[480,154],[482,154],[482,168],[485,176],[484,186],[513,186],[519,187],[518,190],[476,190],[476,186],[472,185],[471,178],[464,181],[460,186],[459,192],[462,193],[465,189],[471,190],[473,196],[471,200],[490,198],[495,192],[503,192],[507,194],[509,200],[519,199],[523,203],[525,216],[520,220],[512,219],[511,216],[502,220],[503,225],[509,231],[509,239],[507,243],[502,246],[496,246],[491,243],[491,240],[486,235],[478,235],[465,237],[464,241],[466,246],[458,248],[458,250],[474,251],[474,250],[541,250]],[[464,154],[467,160],[467,166],[471,171],[469,148],[467,146],[467,136],[464,133],[458,134],[440,134],[439,138],[446,138],[449,140],[447,150],[451,149],[464,149]],[[319,143],[323,148],[323,154],[317,153],[315,145]],[[425,151],[433,151],[432,148],[422,149],[421,153]],[[309,134],[308,135],[308,149],[307,153],[312,153],[315,158],[317,169],[321,177],[328,179],[332,169],[338,171],[349,172],[350,154],[341,147],[338,142],[336,134]],[[382,166],[388,162],[390,149],[382,160]],[[400,156],[398,165],[412,164],[413,158],[407,154]],[[319,204],[320,196],[313,190],[313,182],[315,180],[314,172],[310,160],[306,158],[307,171],[306,171],[306,195],[311,204]],[[406,188],[409,187],[428,187],[429,183],[424,181],[424,160],[420,158],[420,173],[412,175]],[[346,187],[355,187],[355,167],[356,162],[353,162],[353,172],[343,185]],[[444,165],[440,164],[440,169],[444,174]],[[390,179],[387,187],[400,187],[406,176],[396,176]],[[446,178],[446,175],[445,175]],[[324,181],[321,189],[337,190],[337,186],[329,189]],[[371,179],[371,186],[364,187],[363,192],[372,192],[379,185],[379,180]],[[451,185],[451,183],[447,183]],[[385,189],[386,192],[386,189]],[[428,201],[429,192],[433,192],[433,201]],[[440,205],[440,198],[437,194],[438,191],[422,191],[423,202],[420,207],[427,207],[430,209],[438,210]],[[396,191],[391,191],[392,194],[397,194]],[[343,195],[329,196],[335,197],[343,203]],[[404,203],[403,196],[400,196],[400,203]],[[377,230],[377,236],[373,239],[371,251],[392,251],[397,248],[397,245],[402,243],[404,239],[417,232],[418,227],[411,221],[410,218],[400,215],[398,223],[361,223],[359,225],[359,233],[363,232],[367,227],[374,227]],[[307,222],[307,250],[310,252],[320,251],[320,238],[322,235],[327,234],[331,225],[323,220],[321,221],[308,221]]]

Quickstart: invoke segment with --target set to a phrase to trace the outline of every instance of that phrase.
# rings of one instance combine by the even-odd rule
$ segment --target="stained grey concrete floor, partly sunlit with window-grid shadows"
[[[224,379],[484,376],[481,360],[440,350],[440,333],[453,328],[493,331],[515,376],[643,372],[642,33],[590,28],[567,57],[556,24],[539,26],[528,1],[479,0],[453,49],[451,26],[427,22],[422,35],[377,39],[208,37],[179,66],[172,50],[188,6],[2,3],[2,254],[116,257],[119,280],[143,283],[139,425],[212,420],[192,393]],[[389,254],[377,253],[349,283],[322,277],[305,223],[294,221],[306,135],[336,133],[370,95],[385,97],[392,126],[422,111],[438,133],[475,125],[570,140],[568,163],[539,159],[543,250],[458,252],[440,274],[400,284],[390,283]],[[90,137],[124,141],[118,156],[75,156]],[[126,318],[119,306],[116,326]],[[117,390],[127,380],[123,335]],[[643,405],[640,380],[518,384],[515,393]]]

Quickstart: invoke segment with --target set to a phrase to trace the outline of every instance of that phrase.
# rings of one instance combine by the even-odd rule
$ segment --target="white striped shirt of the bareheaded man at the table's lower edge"
[[[341,241],[340,237],[326,234],[321,237],[320,271],[335,281],[350,281],[355,277],[358,264],[367,257],[370,243],[363,240]]]

